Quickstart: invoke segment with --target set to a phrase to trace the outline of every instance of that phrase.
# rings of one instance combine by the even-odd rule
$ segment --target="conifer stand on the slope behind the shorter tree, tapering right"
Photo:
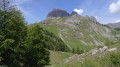
[[[66,44],[57,36],[55,36],[53,33],[50,33],[45,30],[45,41],[47,43],[47,48],[50,50],[56,50],[56,51],[69,51]]]

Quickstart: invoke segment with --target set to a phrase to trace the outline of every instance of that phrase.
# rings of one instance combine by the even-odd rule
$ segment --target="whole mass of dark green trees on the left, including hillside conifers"
[[[68,51],[60,38],[40,26],[27,29],[21,12],[7,0],[0,3],[0,65],[44,67],[50,62],[48,49]]]

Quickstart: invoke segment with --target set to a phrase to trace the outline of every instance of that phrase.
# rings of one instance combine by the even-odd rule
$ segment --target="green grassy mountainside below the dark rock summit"
[[[94,41],[105,43],[106,38],[100,34],[100,32],[105,32],[105,29],[100,24],[95,24],[99,29],[98,33],[96,33],[96,31],[91,29],[91,25],[94,23],[90,22],[89,20],[83,18],[81,20],[80,18],[77,18],[80,19],[81,22],[79,22],[78,26],[74,28],[64,24],[66,19],[67,18],[47,19],[43,21],[45,24],[39,23],[39,25],[44,27],[48,31],[53,32],[56,36],[59,36],[59,34],[61,34],[64,42],[68,44],[71,48],[79,48],[80,50],[88,51],[91,48],[95,47]],[[80,36],[80,38],[77,38],[79,35],[76,35],[80,33],[83,34],[83,37]],[[92,35],[93,37],[91,37],[90,35]],[[88,45],[94,46],[85,46],[81,41],[84,41]]]

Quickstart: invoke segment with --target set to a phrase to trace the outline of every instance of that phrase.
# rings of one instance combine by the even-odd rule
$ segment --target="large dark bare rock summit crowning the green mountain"
[[[69,13],[65,10],[54,8],[50,13],[48,13],[47,17],[68,17]]]

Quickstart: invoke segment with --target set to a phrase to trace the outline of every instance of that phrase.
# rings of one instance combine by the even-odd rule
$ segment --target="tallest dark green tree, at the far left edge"
[[[26,33],[21,12],[11,6],[8,0],[0,0],[0,65],[21,66]]]

